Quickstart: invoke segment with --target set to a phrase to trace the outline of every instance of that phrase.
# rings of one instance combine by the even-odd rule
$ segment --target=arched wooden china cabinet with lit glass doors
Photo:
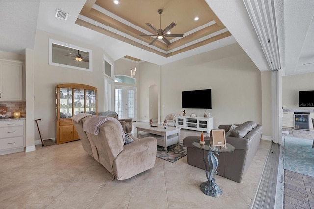
[[[79,113],[97,115],[97,88],[67,83],[55,88],[57,144],[78,140],[72,117]]]

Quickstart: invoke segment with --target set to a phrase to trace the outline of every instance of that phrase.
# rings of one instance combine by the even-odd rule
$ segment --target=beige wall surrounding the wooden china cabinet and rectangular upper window
[[[93,51],[93,71],[76,70],[48,64],[48,39],[76,45]],[[34,47],[35,119],[41,118],[40,132],[43,139],[55,137],[55,86],[61,83],[80,83],[98,88],[98,110],[104,111],[103,67],[105,52],[100,48],[76,42],[54,34],[37,30]],[[105,54],[106,57],[109,57]],[[27,82],[27,81],[26,81]],[[27,113],[26,113],[27,114]],[[39,139],[35,131],[35,140]]]

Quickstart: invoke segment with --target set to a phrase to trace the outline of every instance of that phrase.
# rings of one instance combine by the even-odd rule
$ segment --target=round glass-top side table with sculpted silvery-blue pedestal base
[[[231,144],[226,143],[227,148],[225,147],[215,147],[215,149],[212,146],[209,146],[209,140],[205,140],[205,144],[201,145],[199,141],[193,142],[193,146],[209,151],[207,160],[209,163],[209,170],[207,170],[206,161],[204,160],[204,166],[205,166],[205,175],[207,178],[206,182],[203,182],[200,185],[200,189],[203,191],[204,194],[212,196],[212,197],[219,197],[223,194],[221,188],[216,184],[216,179],[213,177],[215,174],[217,174],[217,167],[218,167],[218,159],[214,155],[214,153],[227,153],[232,152],[235,150],[235,147]]]

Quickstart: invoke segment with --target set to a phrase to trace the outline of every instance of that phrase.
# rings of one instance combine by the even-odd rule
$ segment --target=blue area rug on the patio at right
[[[314,177],[313,140],[285,137],[284,169]]]

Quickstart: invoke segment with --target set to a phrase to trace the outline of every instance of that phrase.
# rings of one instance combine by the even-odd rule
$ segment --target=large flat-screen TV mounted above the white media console
[[[182,108],[211,109],[211,89],[183,91]]]

